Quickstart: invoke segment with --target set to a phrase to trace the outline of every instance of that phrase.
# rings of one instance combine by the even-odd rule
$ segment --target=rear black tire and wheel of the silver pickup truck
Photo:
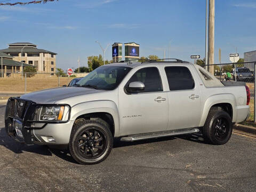
[[[223,145],[231,137],[232,119],[226,111],[210,111],[202,129],[203,137],[213,145]]]

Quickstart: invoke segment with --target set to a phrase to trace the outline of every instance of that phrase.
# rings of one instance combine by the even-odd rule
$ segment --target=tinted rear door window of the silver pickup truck
[[[187,67],[165,67],[170,91],[194,89],[195,82]]]

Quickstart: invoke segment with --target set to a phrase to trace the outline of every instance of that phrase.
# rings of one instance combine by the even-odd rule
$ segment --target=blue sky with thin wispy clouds
[[[0,0],[6,2],[6,0]],[[7,2],[15,2],[7,0]],[[23,1],[24,2],[24,1]],[[256,2],[215,0],[215,57],[229,61],[256,50]],[[140,44],[140,56],[158,55],[194,62],[205,57],[205,0],[59,0],[46,4],[0,6],[0,49],[30,42],[57,55],[62,69],[87,66],[114,42]],[[124,54],[124,47],[123,47]],[[170,56],[169,56],[170,55]],[[111,45],[106,51],[111,60]]]

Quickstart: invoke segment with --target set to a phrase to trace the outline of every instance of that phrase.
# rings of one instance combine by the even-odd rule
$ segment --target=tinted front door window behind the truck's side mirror
[[[139,69],[129,80],[126,86],[131,82],[142,82],[145,85],[143,92],[163,91],[161,77],[156,67],[146,67]]]

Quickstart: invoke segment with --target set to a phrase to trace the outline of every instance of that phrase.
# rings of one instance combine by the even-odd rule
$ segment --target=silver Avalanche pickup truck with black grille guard
[[[78,163],[95,164],[107,158],[114,138],[137,141],[199,132],[222,145],[233,124],[249,116],[249,102],[247,86],[225,86],[186,61],[113,63],[75,87],[10,98],[5,128],[19,142],[64,146]]]

